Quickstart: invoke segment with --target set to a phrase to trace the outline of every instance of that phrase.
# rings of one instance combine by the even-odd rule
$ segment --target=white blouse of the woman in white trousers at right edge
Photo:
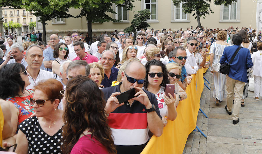
[[[253,62],[253,75],[262,77],[262,51],[258,50],[257,52],[253,52],[251,55],[252,62]]]

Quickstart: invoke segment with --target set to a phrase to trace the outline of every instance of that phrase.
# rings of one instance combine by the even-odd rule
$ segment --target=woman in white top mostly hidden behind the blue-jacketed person
[[[252,48],[252,43],[249,42],[249,39],[247,38],[247,33],[243,29],[241,29],[238,33],[243,38],[243,42],[240,46],[249,49],[249,52],[250,52]],[[241,107],[245,106],[245,98],[248,97],[248,86],[249,86],[249,68],[247,69],[247,83],[245,84],[245,87],[244,87]]]

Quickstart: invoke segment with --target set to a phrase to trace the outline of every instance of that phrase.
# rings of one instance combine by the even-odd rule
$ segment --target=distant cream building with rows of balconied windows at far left
[[[35,30],[29,29],[30,22],[36,22],[36,16],[33,15],[33,12],[26,11],[24,8],[22,9],[14,9],[10,7],[2,7],[2,18],[4,22],[17,22],[22,24],[21,27],[18,28],[10,28],[9,33],[17,32],[17,34],[21,34],[22,31],[25,33],[26,31],[30,32]],[[7,30],[5,30],[7,32]]]

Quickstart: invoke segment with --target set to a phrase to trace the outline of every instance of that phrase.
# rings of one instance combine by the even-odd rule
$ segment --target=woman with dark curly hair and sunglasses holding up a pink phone
[[[169,97],[165,94],[165,86],[169,84],[169,79],[167,75],[166,66],[158,60],[148,61],[145,65],[146,67],[146,81],[143,88],[151,93],[154,93],[158,107],[160,110],[160,115],[162,116],[162,121],[164,126],[167,125],[167,119],[175,120],[177,116],[176,104],[178,104],[179,96],[174,97],[171,93],[168,93]],[[165,118],[167,116],[167,118]]]

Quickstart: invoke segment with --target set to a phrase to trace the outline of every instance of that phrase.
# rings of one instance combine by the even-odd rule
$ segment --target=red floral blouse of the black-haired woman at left
[[[33,91],[29,91],[29,96],[25,97],[8,97],[6,98],[6,101],[12,102],[15,107],[19,110],[18,115],[18,124],[23,122],[25,119],[29,118],[31,114],[35,113],[35,109],[33,109],[33,104],[30,102],[30,98],[33,98]]]

